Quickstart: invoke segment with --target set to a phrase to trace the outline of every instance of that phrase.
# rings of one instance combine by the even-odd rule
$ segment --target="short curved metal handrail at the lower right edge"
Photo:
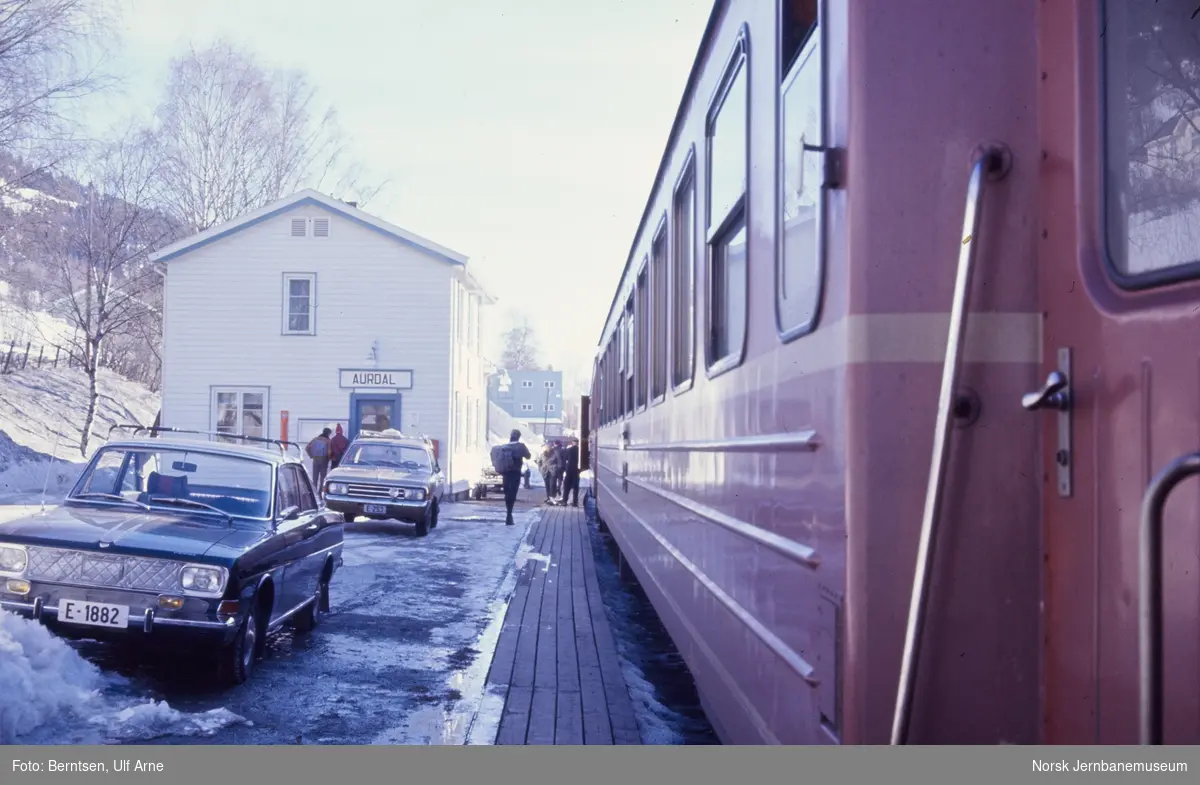
[[[1138,533],[1141,744],[1163,743],[1163,508],[1175,486],[1195,474],[1200,474],[1200,453],[1181,455],[1150,481],[1141,499]]]

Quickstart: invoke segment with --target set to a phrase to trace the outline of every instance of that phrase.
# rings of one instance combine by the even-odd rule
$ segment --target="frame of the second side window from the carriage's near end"
[[[745,150],[743,151],[745,162],[745,185],[742,196],[731,204],[726,212],[716,218],[714,223],[713,211],[713,126],[721,118],[725,101],[728,98],[734,84],[743,79],[745,84]],[[750,176],[751,167],[751,131],[750,118],[754,106],[751,86],[754,82],[750,73],[750,28],[745,24],[738,30],[737,40],[732,52],[725,62],[721,78],[709,100],[708,110],[704,113],[704,162],[707,175],[704,178],[704,373],[708,378],[715,378],[722,373],[738,367],[745,360],[746,346],[750,340],[750,193],[752,191]],[[742,310],[742,340],[737,346],[730,346],[730,352],[722,356],[713,356],[713,302],[714,302],[714,246],[730,239],[736,232],[733,227],[744,224],[746,233],[746,250],[744,269],[745,304]]]

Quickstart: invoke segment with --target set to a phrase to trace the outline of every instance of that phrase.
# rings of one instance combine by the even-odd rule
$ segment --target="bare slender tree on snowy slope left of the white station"
[[[145,133],[131,133],[101,150],[88,193],[67,226],[47,233],[56,288],[76,329],[72,359],[88,374],[88,407],[79,453],[86,457],[96,418],[96,377],[108,341],[139,322],[157,319],[152,306],[158,275],[148,258],[169,226],[155,203],[157,158]]]

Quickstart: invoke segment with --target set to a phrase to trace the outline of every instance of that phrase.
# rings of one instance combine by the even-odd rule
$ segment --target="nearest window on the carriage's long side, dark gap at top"
[[[791,58],[780,102],[781,248],[776,270],[775,307],[785,340],[816,325],[821,298],[822,73],[816,2],[784,0],[780,20],[781,55]],[[797,16],[802,14],[802,16]],[[803,16],[806,14],[806,16]],[[808,36],[800,37],[802,34]],[[794,53],[790,49],[796,47]],[[794,56],[793,56],[794,55]]]

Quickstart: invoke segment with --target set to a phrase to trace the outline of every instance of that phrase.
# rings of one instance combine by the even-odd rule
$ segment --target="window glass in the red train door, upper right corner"
[[[1196,6],[1104,2],[1108,257],[1129,288],[1200,275]]]

